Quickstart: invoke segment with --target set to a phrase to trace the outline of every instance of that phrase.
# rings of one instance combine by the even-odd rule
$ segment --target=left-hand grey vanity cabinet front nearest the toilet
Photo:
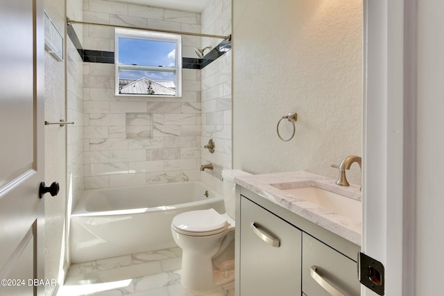
[[[300,230],[244,197],[241,211],[240,295],[300,295]]]

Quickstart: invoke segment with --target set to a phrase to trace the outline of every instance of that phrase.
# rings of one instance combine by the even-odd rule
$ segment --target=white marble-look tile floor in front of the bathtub
[[[234,296],[234,284],[194,293],[180,284],[182,250],[72,264],[58,296]]]

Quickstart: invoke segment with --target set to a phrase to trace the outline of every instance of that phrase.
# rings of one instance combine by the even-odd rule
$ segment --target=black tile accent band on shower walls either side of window
[[[114,52],[112,51],[92,51],[83,49],[82,44],[78,40],[76,31],[73,26],[67,25],[67,33],[74,46],[82,58],[83,62],[99,62],[102,64],[114,64]],[[203,69],[209,64],[217,60],[225,52],[231,50],[231,40],[223,40],[218,46],[207,53],[203,58],[182,58],[183,69]]]

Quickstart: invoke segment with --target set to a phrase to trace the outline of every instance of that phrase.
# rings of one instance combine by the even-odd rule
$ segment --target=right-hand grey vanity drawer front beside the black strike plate
[[[316,269],[317,275],[312,272],[312,269]],[[303,233],[302,291],[307,296],[332,295],[321,286],[323,281],[343,295],[361,294],[361,286],[357,279],[357,263],[316,238]]]

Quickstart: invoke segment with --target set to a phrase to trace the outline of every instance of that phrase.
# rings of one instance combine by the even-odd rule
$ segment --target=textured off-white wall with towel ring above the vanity
[[[330,164],[361,155],[361,44],[362,1],[233,1],[233,167],[337,177]]]

